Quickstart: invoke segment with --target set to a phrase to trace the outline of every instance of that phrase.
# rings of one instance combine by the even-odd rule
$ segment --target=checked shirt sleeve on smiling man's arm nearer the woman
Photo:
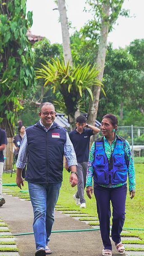
[[[75,149],[67,133],[67,141],[64,144],[64,156],[67,159],[68,166],[77,165],[77,157],[75,155]]]

